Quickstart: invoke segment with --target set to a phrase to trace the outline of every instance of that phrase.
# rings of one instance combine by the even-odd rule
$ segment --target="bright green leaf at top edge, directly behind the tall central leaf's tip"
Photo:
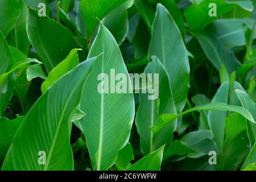
[[[82,0],[80,2],[82,18],[84,18],[86,27],[86,38],[89,41],[92,41],[98,19],[104,18],[106,14],[125,1],[126,0]]]

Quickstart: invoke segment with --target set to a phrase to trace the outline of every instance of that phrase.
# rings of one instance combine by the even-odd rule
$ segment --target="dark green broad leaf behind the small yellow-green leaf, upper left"
[[[72,48],[79,47],[65,27],[48,16],[39,17],[32,9],[28,10],[27,34],[47,72],[64,60]]]

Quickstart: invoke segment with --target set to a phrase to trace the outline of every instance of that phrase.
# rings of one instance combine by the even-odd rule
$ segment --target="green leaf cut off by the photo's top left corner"
[[[0,6],[0,31],[7,35],[13,29],[19,15],[18,0],[1,0]]]

